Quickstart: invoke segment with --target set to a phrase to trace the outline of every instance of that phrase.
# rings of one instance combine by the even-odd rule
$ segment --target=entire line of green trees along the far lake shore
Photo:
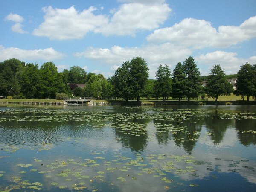
[[[25,64],[12,58],[0,62],[0,94],[13,98],[51,98],[64,97],[94,97],[99,99],[137,99],[160,98],[167,100],[186,98],[188,101],[198,96],[215,98],[230,95],[233,86],[227,81],[227,76],[219,64],[216,64],[209,76],[201,76],[192,56],[177,63],[171,73],[167,65],[160,65],[156,79],[148,79],[147,62],[140,57],[123,62],[115,74],[106,79],[102,74],[88,73],[78,66],[70,70],[58,72],[52,62],[46,62],[39,68],[38,64]],[[256,64],[248,63],[241,66],[235,75],[237,77],[234,94],[242,98],[256,98]],[[206,80],[202,87],[201,81]],[[77,84],[86,84],[84,88]]]

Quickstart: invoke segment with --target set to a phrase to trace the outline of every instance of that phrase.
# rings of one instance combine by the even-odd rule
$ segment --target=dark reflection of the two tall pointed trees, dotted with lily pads
[[[201,120],[197,120],[196,123],[184,122],[180,127],[184,127],[184,130],[173,134],[174,143],[177,147],[182,145],[187,153],[191,153],[199,138],[202,122]]]

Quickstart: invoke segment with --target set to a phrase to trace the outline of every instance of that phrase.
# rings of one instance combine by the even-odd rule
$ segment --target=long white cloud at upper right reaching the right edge
[[[172,42],[194,49],[229,47],[256,37],[255,26],[256,16],[240,26],[219,26],[218,30],[209,21],[186,18],[172,27],[155,30],[147,40],[151,43]]]

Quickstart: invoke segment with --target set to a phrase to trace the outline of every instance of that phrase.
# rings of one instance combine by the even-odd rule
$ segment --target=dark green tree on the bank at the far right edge
[[[241,66],[240,70],[237,73],[237,80],[235,85],[235,95],[247,96],[247,101],[249,101],[250,96],[253,95],[255,89],[253,68],[249,63]]]

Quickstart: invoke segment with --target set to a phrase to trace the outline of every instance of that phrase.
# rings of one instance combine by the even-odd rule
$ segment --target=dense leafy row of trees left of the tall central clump
[[[86,89],[77,87],[76,83],[86,83]],[[39,68],[38,64],[25,64],[13,58],[0,62],[0,93],[27,99],[54,99],[57,93],[62,93],[62,98],[72,94],[109,97],[112,95],[112,86],[103,75],[87,74],[78,66],[58,72],[52,62],[46,62]]]

